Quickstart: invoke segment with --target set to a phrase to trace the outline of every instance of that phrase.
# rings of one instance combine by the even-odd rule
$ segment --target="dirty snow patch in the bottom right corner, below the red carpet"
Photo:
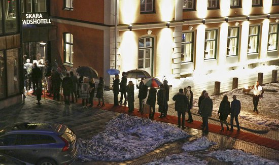
[[[233,164],[279,164],[278,162],[261,158],[260,156],[253,155],[250,153],[243,152],[241,150],[225,150],[225,151],[214,151],[208,153],[206,156],[215,157],[221,161],[230,161]]]

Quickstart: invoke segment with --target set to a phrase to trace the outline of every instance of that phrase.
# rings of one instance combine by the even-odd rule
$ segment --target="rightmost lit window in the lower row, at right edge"
[[[277,50],[278,46],[278,24],[270,24],[268,30],[267,50]]]

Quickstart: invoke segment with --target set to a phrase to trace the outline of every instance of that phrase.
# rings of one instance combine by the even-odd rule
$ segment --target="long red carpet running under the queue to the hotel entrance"
[[[42,98],[43,98],[43,96],[44,95],[42,95]],[[52,99],[50,97],[47,97],[47,98]],[[61,98],[63,100],[63,96]],[[81,99],[78,100],[78,104],[81,104]],[[94,101],[94,106],[93,107],[96,108],[97,104],[98,104],[98,102]],[[108,103],[106,103],[105,106],[103,106],[103,107],[99,107],[99,109],[118,112],[118,113],[125,113],[125,114],[138,116],[138,117],[144,117],[144,118],[149,117],[149,114],[141,114],[140,112],[137,112],[138,109],[134,109],[134,111],[132,113],[128,113],[128,107],[124,107],[124,106],[114,107],[113,104],[108,104]],[[156,121],[162,121],[162,122],[165,122],[165,123],[171,123],[171,124],[177,124],[178,123],[176,116],[168,115],[165,118],[159,118],[159,116],[160,116],[159,113],[155,113],[154,119]],[[200,128],[200,125],[201,125],[200,121],[194,121],[192,123],[187,123],[186,122],[185,124],[186,124],[187,127],[190,127],[190,128],[201,129]],[[261,145],[261,146],[265,146],[265,147],[268,147],[268,148],[279,150],[279,141],[276,141],[276,140],[263,138],[263,137],[260,137],[260,136],[257,136],[257,135],[251,134],[251,133],[243,132],[243,131],[239,131],[239,132],[236,131],[236,130],[234,130],[233,132],[231,132],[231,131],[220,131],[221,126],[220,125],[215,125],[215,124],[208,124],[208,127],[209,127],[209,131],[211,133],[225,135],[225,136],[240,139],[240,140],[243,140],[243,141],[246,141],[246,142],[251,142],[251,143]]]

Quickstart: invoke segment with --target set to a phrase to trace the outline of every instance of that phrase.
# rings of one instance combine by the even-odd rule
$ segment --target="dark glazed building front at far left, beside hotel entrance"
[[[22,102],[19,5],[18,0],[0,2],[0,109]]]

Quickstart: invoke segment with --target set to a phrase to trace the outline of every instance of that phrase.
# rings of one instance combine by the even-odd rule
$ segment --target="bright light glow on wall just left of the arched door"
[[[137,38],[133,31],[125,31],[121,36],[120,70],[129,71],[137,69]]]

